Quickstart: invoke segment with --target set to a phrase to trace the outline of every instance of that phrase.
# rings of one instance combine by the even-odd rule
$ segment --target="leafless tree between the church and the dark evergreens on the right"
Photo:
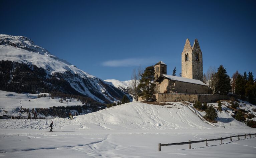
[[[218,91],[218,89],[220,88],[219,87],[217,89],[219,78],[217,77],[216,72],[217,72],[216,68],[210,66],[206,73],[206,80],[207,80],[209,87],[212,90],[212,94],[215,94]]]

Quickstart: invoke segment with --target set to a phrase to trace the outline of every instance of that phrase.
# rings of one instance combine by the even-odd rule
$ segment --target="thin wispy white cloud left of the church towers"
[[[129,59],[120,59],[120,60],[110,60],[103,62],[103,66],[107,67],[131,67],[139,65],[150,65],[157,63],[156,58],[129,58]]]

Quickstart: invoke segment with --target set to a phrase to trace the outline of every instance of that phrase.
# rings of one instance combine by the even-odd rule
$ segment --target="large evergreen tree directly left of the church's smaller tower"
[[[139,88],[142,90],[140,96],[143,99],[150,99],[153,97],[155,91],[155,71],[154,66],[145,68],[144,73],[141,75]]]

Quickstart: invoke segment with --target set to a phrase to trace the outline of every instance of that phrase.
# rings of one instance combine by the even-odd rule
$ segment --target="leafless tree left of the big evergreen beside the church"
[[[140,84],[140,79],[142,75],[142,69],[141,66],[139,68],[134,69],[132,76],[131,76],[131,81],[129,83],[129,93],[134,97],[136,101],[138,101],[139,98],[139,92],[140,89],[138,88],[138,85]]]

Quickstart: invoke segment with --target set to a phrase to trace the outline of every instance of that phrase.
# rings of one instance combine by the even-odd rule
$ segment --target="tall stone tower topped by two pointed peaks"
[[[181,56],[181,76],[203,81],[203,54],[197,39],[192,48],[189,39],[186,40]]]

